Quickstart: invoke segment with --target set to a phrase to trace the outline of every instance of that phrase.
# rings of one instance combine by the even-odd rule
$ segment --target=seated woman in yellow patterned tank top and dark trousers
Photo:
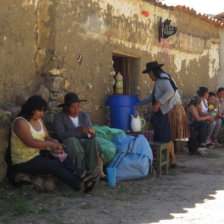
[[[51,153],[41,153],[46,148],[56,154],[63,151],[63,146],[48,135],[41,120],[46,108],[47,103],[41,96],[32,96],[15,119],[11,134],[13,170],[31,175],[52,174],[76,191],[92,190],[99,176],[98,168],[86,172],[74,166],[69,158],[61,162]]]

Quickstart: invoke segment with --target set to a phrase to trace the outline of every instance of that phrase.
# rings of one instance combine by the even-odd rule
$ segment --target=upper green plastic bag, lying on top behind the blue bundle
[[[93,126],[96,136],[108,139],[110,141],[113,141],[114,136],[116,134],[125,134],[125,131],[117,128],[110,128],[108,126],[99,126],[99,125],[94,125]]]

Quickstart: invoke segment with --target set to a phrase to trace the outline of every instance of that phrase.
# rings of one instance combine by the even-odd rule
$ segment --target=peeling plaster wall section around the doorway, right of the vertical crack
[[[148,18],[141,15],[148,8]],[[166,10],[137,1],[78,0],[55,4],[55,52],[65,57],[70,90],[88,99],[84,104],[94,122],[105,122],[104,102],[111,94],[112,54],[139,58],[131,79],[131,93],[140,98],[152,88],[141,74],[145,63],[158,60],[176,79],[182,96],[195,94],[198,86],[214,91],[219,70],[218,29],[199,18],[178,10]],[[158,43],[158,22],[169,18],[178,27],[176,35]],[[168,55],[167,53],[168,52]],[[76,62],[83,56],[82,64]],[[169,56],[169,57],[168,57]]]

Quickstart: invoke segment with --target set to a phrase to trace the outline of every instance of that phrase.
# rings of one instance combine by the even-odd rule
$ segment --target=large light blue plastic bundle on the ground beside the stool
[[[116,168],[117,180],[137,179],[148,175],[153,154],[144,135],[133,137],[118,134],[114,137],[114,144],[118,151],[108,167]]]

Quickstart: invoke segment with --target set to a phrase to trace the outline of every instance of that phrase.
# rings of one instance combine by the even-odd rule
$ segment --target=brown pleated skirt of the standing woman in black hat
[[[186,113],[182,104],[177,103],[169,112],[171,140],[181,140],[190,137]]]

